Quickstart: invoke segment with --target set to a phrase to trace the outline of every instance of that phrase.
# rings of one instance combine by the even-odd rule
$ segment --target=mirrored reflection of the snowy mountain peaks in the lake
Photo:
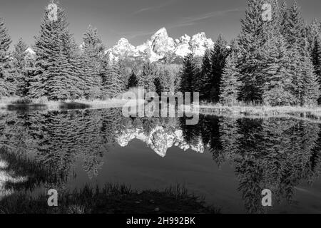
[[[126,147],[133,139],[145,142],[148,147],[155,151],[159,156],[165,157],[168,148],[176,146],[182,150],[193,150],[195,152],[204,152],[202,140],[195,144],[188,144],[183,138],[182,130],[163,128],[157,126],[151,130],[151,133],[145,133],[140,128],[130,128],[123,130],[117,135],[116,141],[121,147]]]

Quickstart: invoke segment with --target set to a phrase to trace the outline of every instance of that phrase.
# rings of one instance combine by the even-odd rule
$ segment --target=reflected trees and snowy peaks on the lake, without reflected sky
[[[104,155],[116,145],[131,146],[132,140],[141,140],[161,157],[177,147],[210,152],[213,165],[233,166],[250,213],[266,212],[263,189],[272,190],[276,203],[292,203],[295,187],[320,176],[321,126],[316,123],[217,116],[200,116],[198,125],[185,123],[184,118],[123,118],[116,108],[1,115],[0,147],[9,152],[2,152],[0,164],[9,166],[2,165],[0,173],[29,179],[18,185],[2,178],[0,186],[3,191],[63,189],[77,175],[77,162],[82,161],[89,178],[96,177]]]

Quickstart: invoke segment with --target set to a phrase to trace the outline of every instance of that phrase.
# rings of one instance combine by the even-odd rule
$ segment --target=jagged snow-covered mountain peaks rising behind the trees
[[[203,56],[205,50],[213,46],[214,42],[211,38],[206,38],[205,33],[198,33],[192,37],[185,35],[174,40],[168,36],[165,28],[161,28],[146,43],[137,47],[131,45],[126,38],[121,38],[113,48],[106,51],[106,54],[111,61],[127,57],[175,63],[181,61],[188,53]]]

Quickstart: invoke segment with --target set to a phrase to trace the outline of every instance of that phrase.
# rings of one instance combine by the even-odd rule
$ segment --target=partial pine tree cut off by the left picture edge
[[[13,95],[15,81],[11,75],[9,66],[9,47],[11,38],[4,24],[4,19],[0,18],[0,96]]]

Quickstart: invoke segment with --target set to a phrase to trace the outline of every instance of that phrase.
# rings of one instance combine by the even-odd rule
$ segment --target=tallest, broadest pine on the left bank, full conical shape
[[[29,95],[48,96],[51,100],[71,98],[77,92],[78,76],[73,66],[74,41],[68,31],[66,14],[58,6],[57,20],[49,18],[46,9],[41,31],[36,36],[36,75],[32,78]]]

